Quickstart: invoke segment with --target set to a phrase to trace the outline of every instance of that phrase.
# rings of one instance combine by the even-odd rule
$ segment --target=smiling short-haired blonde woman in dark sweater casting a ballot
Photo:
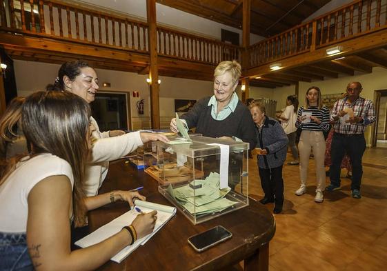
[[[219,63],[214,72],[214,94],[197,101],[181,116],[186,129],[196,128],[195,132],[204,137],[244,141],[252,150],[256,143],[254,122],[248,108],[235,93],[240,76],[241,65],[237,61]],[[170,121],[170,130],[178,132],[175,118]],[[242,158],[239,153],[230,154],[228,184],[232,189],[241,179]]]

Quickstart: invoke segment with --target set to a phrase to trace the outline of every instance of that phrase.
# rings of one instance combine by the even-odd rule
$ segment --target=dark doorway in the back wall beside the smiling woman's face
[[[99,130],[128,130],[130,125],[130,95],[126,92],[97,92],[90,103],[92,117]]]

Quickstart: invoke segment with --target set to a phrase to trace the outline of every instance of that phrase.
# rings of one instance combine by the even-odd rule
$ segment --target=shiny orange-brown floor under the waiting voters
[[[284,212],[275,214],[270,271],[387,270],[387,149],[367,149],[363,161],[362,198],[350,197],[350,180],[342,170],[342,190],[324,192],[323,203],[314,201],[313,159],[303,196],[295,195],[298,166],[284,165]],[[255,158],[249,160],[249,170],[250,196],[261,199]]]

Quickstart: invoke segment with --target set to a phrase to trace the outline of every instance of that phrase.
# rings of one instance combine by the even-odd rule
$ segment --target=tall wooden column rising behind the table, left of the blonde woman
[[[146,0],[148,18],[148,48],[150,54],[150,122],[153,129],[160,128],[159,70],[157,68],[156,0]]]

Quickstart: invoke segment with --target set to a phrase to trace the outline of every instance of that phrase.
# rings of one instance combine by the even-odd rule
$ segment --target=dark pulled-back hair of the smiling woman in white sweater
[[[74,81],[75,77],[81,74],[81,68],[90,67],[89,64],[85,61],[67,61],[62,64],[61,68],[58,71],[58,77],[55,79],[54,83],[50,83],[46,86],[46,90],[65,90],[66,86],[63,81],[63,77],[68,77],[70,81]]]

